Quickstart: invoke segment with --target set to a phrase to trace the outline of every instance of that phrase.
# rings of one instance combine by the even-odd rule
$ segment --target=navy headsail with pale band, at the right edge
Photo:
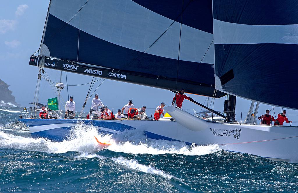
[[[297,1],[213,0],[216,88],[298,109]]]

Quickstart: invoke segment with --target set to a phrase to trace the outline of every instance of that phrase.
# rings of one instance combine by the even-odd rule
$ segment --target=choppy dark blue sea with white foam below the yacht
[[[98,135],[78,126],[71,141],[32,139],[20,111],[0,109],[0,192],[298,192],[297,163],[150,140],[136,130]]]

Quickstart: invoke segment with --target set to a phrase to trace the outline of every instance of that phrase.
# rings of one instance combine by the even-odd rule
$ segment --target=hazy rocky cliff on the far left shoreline
[[[18,106],[12,95],[13,92],[8,87],[9,85],[0,79],[0,106]]]

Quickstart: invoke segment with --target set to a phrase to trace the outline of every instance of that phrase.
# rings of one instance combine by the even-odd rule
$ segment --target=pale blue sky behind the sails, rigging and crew
[[[16,98],[16,102],[22,106],[29,106],[33,101],[35,85],[37,81],[37,67],[29,66],[30,55],[34,54],[41,42],[41,37],[44,29],[46,13],[48,9],[48,0],[14,0],[1,1],[0,7],[0,78],[10,85],[10,90]],[[45,69],[50,76],[51,81],[59,82],[60,71]],[[65,72],[62,73],[62,82],[66,84]],[[91,76],[78,75],[67,72],[68,84],[83,84],[91,82]],[[94,84],[94,89],[101,83],[97,81]],[[89,85],[69,86],[69,95],[74,97],[77,110],[86,98]],[[92,93],[91,92],[91,93]],[[110,109],[122,108],[127,104],[128,100],[132,99],[136,107],[147,105],[148,108],[155,109],[161,102],[170,105],[173,99],[173,93],[168,90],[156,89],[136,84],[123,83],[119,81],[105,80],[97,89],[99,98]],[[66,102],[67,90],[61,92],[63,100]],[[191,95],[190,97],[200,103],[204,103],[206,97]],[[55,97],[55,92],[49,86],[49,83],[42,79],[39,102],[46,103],[46,99]],[[93,97],[92,97],[93,98]],[[91,106],[90,98],[87,107]],[[211,98],[209,99],[211,101]],[[216,99],[214,109],[222,111],[225,98]],[[247,112],[250,106],[250,101],[237,98],[236,115],[240,119],[240,112]],[[184,101],[183,109],[199,109],[201,107]],[[259,114],[265,112],[266,109],[271,109],[272,106],[261,104]],[[149,109],[148,109],[149,110]],[[86,111],[86,110],[85,110]],[[116,111],[116,110],[114,110]],[[275,112],[278,113],[281,108],[276,107]],[[189,111],[190,112],[190,111]],[[272,111],[273,113],[273,111]],[[297,111],[287,111],[289,119],[296,119]],[[245,117],[246,114],[243,114]]]

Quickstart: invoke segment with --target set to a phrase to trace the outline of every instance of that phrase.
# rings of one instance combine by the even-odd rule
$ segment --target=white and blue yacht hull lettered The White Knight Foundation
[[[218,144],[230,152],[249,153],[273,160],[298,162],[298,128],[248,124],[211,123],[179,108],[169,106],[167,112],[176,121],[133,120],[21,120],[30,127],[33,138],[67,140],[69,128],[78,122],[96,126],[99,132],[119,134],[125,129],[145,130],[148,138],[178,140],[188,144]],[[241,130],[241,131],[240,131]]]

